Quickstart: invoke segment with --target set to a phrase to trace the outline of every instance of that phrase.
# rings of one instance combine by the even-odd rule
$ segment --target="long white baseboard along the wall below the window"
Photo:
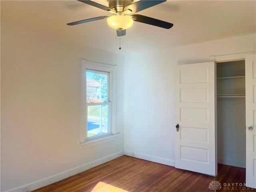
[[[86,170],[88,170],[90,168],[93,168],[93,167],[96,167],[98,165],[101,165],[103,163],[109,162],[109,161],[111,161],[113,159],[116,159],[116,158],[118,158],[120,156],[123,156],[123,155],[124,155],[124,151],[120,151],[120,152],[117,152],[115,154],[111,154],[109,156],[106,156],[104,158],[95,160],[93,162],[89,162],[89,163],[83,164],[81,166],[78,166],[78,167],[66,170],[64,172],[58,173],[56,175],[53,175],[53,176],[50,176],[50,177],[38,180],[36,182],[32,182],[32,183],[26,184],[24,186],[19,186],[17,188],[8,190],[6,192],[22,192],[22,188],[24,188],[26,186],[30,186],[30,191],[36,190],[38,188],[47,186],[47,185],[55,183],[55,182],[58,182],[60,180],[63,180],[65,178],[68,178],[70,176],[78,174],[80,172],[86,171]]]

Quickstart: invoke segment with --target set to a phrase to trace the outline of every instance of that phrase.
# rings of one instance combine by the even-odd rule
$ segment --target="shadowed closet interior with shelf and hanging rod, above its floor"
[[[245,61],[216,63],[218,163],[246,166]]]

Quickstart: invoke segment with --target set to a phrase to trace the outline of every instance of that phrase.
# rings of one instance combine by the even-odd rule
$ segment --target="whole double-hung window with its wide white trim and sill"
[[[81,148],[116,139],[116,66],[82,60]]]

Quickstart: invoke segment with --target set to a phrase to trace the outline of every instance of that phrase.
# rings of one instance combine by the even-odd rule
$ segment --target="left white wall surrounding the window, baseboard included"
[[[120,135],[80,150],[82,58],[118,65]],[[33,190],[121,156],[123,85],[124,56],[1,22],[1,192]]]

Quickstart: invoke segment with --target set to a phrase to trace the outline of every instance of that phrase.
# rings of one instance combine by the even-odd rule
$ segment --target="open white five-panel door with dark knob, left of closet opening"
[[[214,62],[176,67],[175,167],[216,173]],[[176,129],[176,128],[175,128]]]

